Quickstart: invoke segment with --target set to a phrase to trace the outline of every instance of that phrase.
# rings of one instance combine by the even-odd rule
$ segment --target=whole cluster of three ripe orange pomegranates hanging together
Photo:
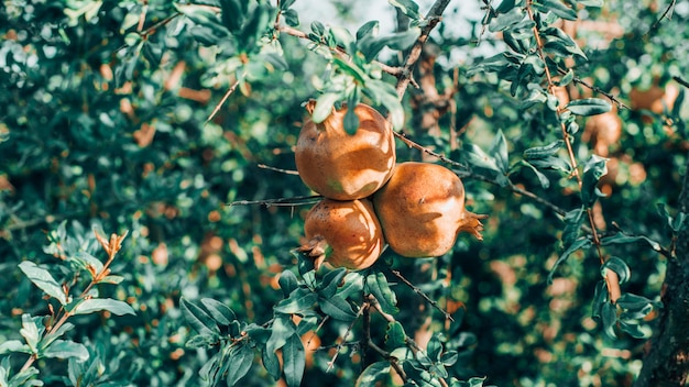
[[[354,107],[359,128],[349,134],[347,106],[320,123],[310,120],[315,107],[306,104],[295,159],[304,184],[324,196],[306,214],[299,248],[316,267],[363,269],[385,244],[405,257],[439,256],[462,231],[482,240],[486,215],[467,211],[459,177],[437,164],[396,164],[392,128],[378,111]]]

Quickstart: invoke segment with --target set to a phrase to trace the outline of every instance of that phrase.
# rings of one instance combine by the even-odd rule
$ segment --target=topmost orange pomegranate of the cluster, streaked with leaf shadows
[[[316,101],[306,104],[313,113]],[[354,108],[359,129],[344,131],[347,107],[335,110],[321,123],[306,120],[295,148],[296,167],[302,180],[326,198],[354,200],[381,188],[392,176],[395,143],[385,118],[360,103]]]

